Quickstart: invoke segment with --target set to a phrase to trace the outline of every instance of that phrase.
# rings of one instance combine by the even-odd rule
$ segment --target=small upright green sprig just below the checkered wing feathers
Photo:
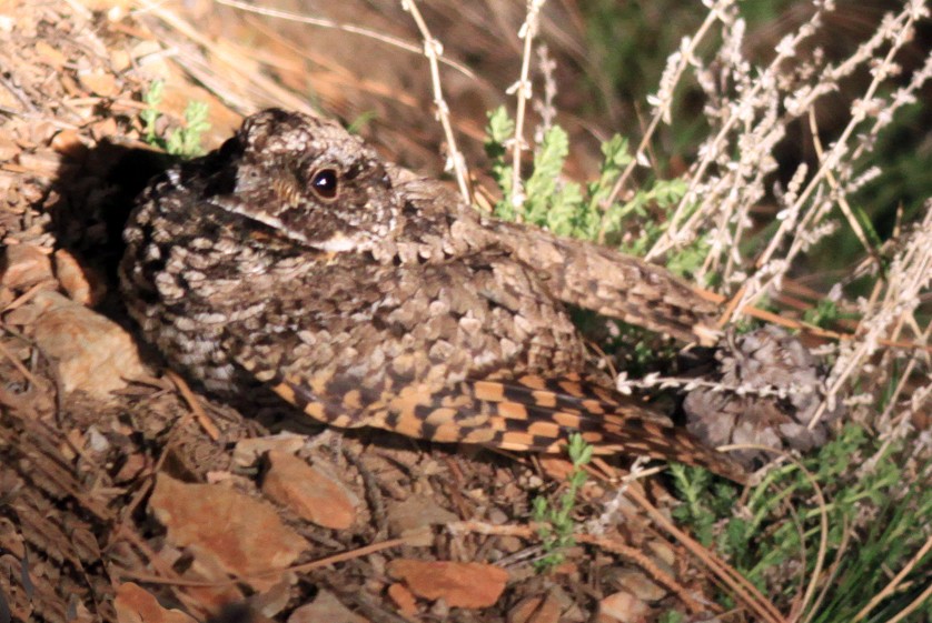
[[[559,502],[552,506],[545,496],[534,499],[532,519],[537,523],[537,534],[544,547],[544,556],[535,564],[538,571],[553,569],[563,562],[566,547],[572,547],[575,522],[573,511],[576,506],[576,494],[586,482],[583,468],[592,461],[593,446],[583,441],[583,435],[575,433],[569,436],[566,446],[573,471],[566,476],[566,490],[561,494]]]

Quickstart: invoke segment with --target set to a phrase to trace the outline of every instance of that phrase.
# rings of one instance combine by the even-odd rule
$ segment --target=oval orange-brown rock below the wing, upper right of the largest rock
[[[346,486],[294,454],[270,451],[262,493],[301,519],[324,527],[346,530],[356,521],[356,500]]]

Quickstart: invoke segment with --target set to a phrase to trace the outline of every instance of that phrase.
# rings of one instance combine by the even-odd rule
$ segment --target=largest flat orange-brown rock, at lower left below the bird
[[[257,587],[271,587],[285,569],[307,549],[307,542],[285,525],[275,509],[216,484],[188,484],[159,474],[149,509],[168,529],[168,542],[187,547],[209,567],[248,577]],[[220,577],[217,577],[218,580]]]

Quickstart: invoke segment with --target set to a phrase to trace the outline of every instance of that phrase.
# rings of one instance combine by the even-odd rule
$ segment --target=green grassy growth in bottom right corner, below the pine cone
[[[929,539],[932,489],[906,473],[905,451],[900,444],[883,450],[864,429],[852,424],[804,461],[825,495],[829,526],[827,555],[815,593],[824,595],[817,605],[809,604],[812,622],[853,621],[891,582],[890,570],[902,569]],[[869,456],[872,464],[864,469]],[[918,465],[925,478],[930,469],[928,461]],[[707,472],[673,465],[671,473],[683,500],[674,511],[681,525],[726,556],[775,603],[789,607],[797,597],[800,581],[807,583],[816,570],[822,537],[822,509],[802,471],[795,465],[771,471],[740,513],[734,512],[734,490]],[[875,604],[863,621],[886,621],[900,612],[925,587],[921,579],[930,569],[932,556],[926,553],[900,590]],[[726,597],[721,601],[733,605]],[[918,612],[932,613],[932,604]]]

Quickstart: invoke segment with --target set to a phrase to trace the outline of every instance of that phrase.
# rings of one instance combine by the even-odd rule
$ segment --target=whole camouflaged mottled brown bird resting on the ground
[[[740,471],[586,375],[567,305],[683,341],[712,309],[665,270],[480,215],[333,122],[267,110],[143,191],[120,273],[170,364],[227,399],[257,384],[335,426]]]

